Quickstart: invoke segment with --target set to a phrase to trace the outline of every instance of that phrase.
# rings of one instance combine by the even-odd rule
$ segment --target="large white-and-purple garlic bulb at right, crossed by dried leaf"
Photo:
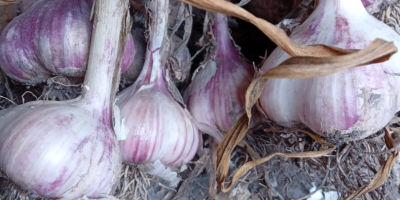
[[[374,39],[400,36],[370,16],[361,0],[321,0],[317,9],[290,38],[304,45],[326,44],[361,49]],[[262,67],[265,72],[289,55],[275,49]],[[272,120],[284,126],[302,123],[316,133],[357,140],[383,128],[400,109],[400,54],[384,63],[351,68],[313,79],[269,79],[260,104]]]

